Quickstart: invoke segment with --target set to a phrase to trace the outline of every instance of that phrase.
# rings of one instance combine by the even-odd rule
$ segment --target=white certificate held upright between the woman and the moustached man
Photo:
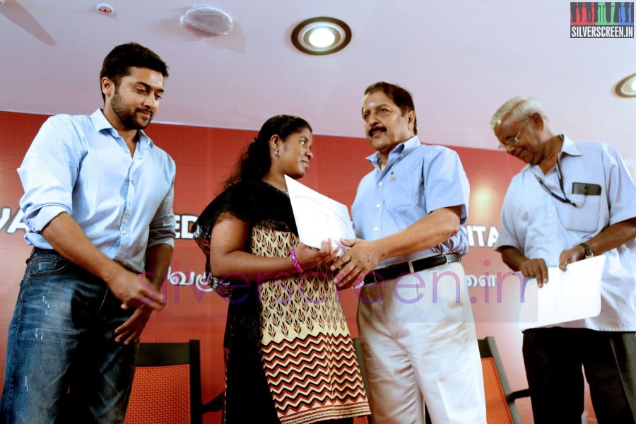
[[[355,238],[347,207],[287,175],[285,182],[300,241],[320,248],[324,240],[331,239],[334,247],[341,248],[339,255],[343,254],[348,248],[340,244],[340,239]]]

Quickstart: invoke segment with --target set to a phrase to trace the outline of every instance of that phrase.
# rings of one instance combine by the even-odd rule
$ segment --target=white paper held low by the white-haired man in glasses
[[[577,261],[565,271],[548,267],[548,283],[526,281],[525,299],[519,313],[522,330],[596,317],[601,313],[603,255]]]

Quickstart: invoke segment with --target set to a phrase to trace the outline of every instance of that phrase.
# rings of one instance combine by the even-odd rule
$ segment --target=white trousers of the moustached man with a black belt
[[[377,424],[485,424],[483,374],[464,267],[360,290],[358,327]]]

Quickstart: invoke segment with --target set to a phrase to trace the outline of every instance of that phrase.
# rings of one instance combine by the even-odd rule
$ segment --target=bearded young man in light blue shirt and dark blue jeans
[[[34,249],[8,331],[3,423],[124,420],[174,246],[175,163],[143,132],[165,77],[151,50],[115,47],[103,110],[47,119],[18,168]]]

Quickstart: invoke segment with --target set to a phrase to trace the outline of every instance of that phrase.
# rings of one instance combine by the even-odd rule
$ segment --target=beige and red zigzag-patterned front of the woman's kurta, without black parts
[[[252,253],[286,257],[292,232],[255,227]],[[336,285],[326,269],[260,285],[261,355],[281,423],[370,413]]]

